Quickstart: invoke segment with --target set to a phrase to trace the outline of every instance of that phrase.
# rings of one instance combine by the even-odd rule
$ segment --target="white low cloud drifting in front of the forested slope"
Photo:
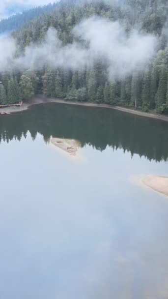
[[[31,44],[23,56],[14,58],[16,44],[12,38],[0,38],[0,71],[11,67],[41,69],[51,67],[81,69],[95,59],[106,61],[109,76],[123,78],[135,68],[143,69],[155,55],[157,38],[134,30],[127,35],[119,22],[92,17],[73,29],[74,41],[63,46],[57,31],[49,28],[45,40]],[[77,39],[78,37],[78,39]]]

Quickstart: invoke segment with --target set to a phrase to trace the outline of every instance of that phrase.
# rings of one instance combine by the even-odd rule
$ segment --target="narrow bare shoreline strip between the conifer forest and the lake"
[[[140,117],[148,117],[155,120],[162,120],[162,121],[168,121],[168,116],[159,115],[159,114],[152,114],[147,113],[143,111],[133,110],[126,107],[120,107],[120,106],[112,106],[110,104],[96,104],[96,103],[90,103],[90,102],[75,102],[75,101],[65,101],[63,99],[54,99],[54,98],[33,98],[29,102],[24,102],[22,106],[20,107],[6,107],[6,108],[0,108],[0,113],[16,113],[28,110],[31,106],[37,105],[37,104],[49,104],[49,103],[57,103],[57,104],[67,104],[67,105],[76,105],[76,106],[85,106],[85,107],[96,107],[96,108],[106,108],[106,109],[113,109],[118,110],[124,113],[129,113],[133,115],[137,115]]]

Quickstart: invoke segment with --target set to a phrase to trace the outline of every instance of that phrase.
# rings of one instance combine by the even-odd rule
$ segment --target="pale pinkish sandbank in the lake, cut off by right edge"
[[[146,176],[141,181],[153,190],[168,196],[168,178],[160,176]]]

